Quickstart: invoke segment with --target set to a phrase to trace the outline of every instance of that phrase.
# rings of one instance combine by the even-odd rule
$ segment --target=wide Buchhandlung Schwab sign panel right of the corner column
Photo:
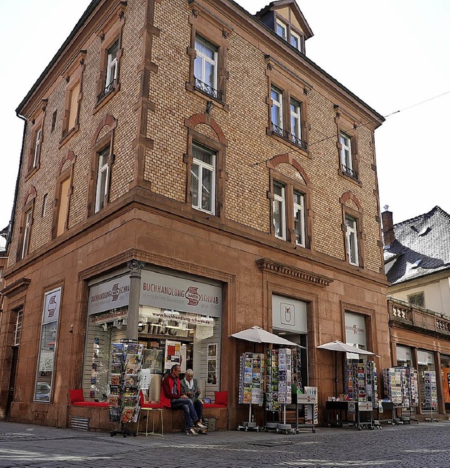
[[[165,310],[220,317],[222,289],[191,279],[143,270],[140,303]]]

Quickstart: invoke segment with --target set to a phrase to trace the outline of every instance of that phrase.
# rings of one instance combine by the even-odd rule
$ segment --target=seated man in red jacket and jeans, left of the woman
[[[170,373],[162,379],[160,403],[173,409],[183,408],[186,434],[188,436],[197,436],[198,434],[195,432],[194,425],[200,431],[204,431],[206,426],[198,419],[192,400],[184,393],[181,393],[180,372],[181,367],[178,364],[174,364],[170,369]]]

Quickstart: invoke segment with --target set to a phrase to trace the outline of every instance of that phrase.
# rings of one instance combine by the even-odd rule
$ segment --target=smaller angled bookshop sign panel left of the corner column
[[[127,306],[129,276],[124,275],[89,288],[88,315]]]

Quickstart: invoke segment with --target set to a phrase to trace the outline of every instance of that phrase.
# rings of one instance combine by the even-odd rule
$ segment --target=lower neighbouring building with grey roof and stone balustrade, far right
[[[382,217],[392,364],[413,365],[420,378],[437,372],[439,412],[450,412],[450,216],[435,206],[393,224],[387,208]],[[425,386],[419,390],[420,411],[426,412]]]

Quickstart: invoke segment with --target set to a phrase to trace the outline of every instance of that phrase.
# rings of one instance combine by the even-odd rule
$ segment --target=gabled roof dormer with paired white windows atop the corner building
[[[295,0],[272,1],[255,16],[288,44],[305,53],[304,42],[314,34]]]

